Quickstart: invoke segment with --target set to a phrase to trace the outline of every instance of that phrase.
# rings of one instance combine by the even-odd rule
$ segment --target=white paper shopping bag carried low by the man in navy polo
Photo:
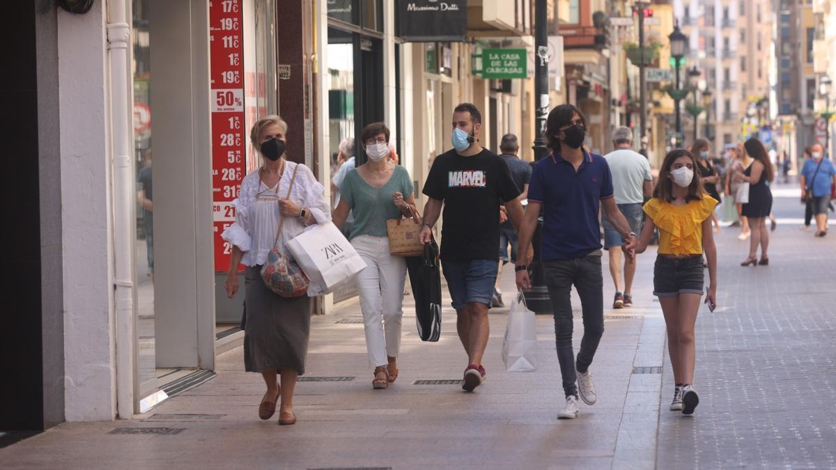
[[[505,340],[502,341],[502,361],[508,372],[537,370],[537,320],[525,306],[523,293],[511,305]]]

